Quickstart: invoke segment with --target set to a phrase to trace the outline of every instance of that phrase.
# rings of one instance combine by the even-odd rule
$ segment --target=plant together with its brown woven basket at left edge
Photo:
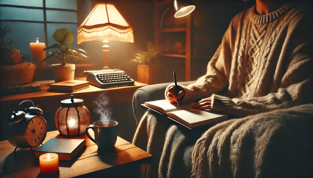
[[[8,25],[0,27],[0,86],[28,84],[33,81],[36,65],[22,61],[21,51],[8,37]]]

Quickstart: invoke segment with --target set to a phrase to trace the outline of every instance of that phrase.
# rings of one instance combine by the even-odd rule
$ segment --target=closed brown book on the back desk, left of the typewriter
[[[84,80],[67,80],[54,84],[49,84],[50,91],[71,93],[77,90],[85,89],[89,87],[89,82]]]

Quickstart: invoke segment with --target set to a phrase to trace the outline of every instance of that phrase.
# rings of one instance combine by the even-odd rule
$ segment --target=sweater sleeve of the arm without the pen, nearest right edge
[[[233,116],[247,116],[312,103],[312,41],[310,35],[304,34],[302,39],[293,42],[295,48],[277,92],[248,99],[229,99],[213,94],[211,110]]]

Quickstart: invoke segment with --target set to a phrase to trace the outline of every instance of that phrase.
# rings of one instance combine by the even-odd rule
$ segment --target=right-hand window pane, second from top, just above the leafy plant
[[[77,22],[76,12],[47,10],[48,22]]]

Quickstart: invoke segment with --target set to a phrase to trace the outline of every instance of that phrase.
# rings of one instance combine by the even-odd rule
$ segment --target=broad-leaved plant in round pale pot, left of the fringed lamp
[[[75,65],[67,64],[67,61],[71,58],[80,58],[81,56],[87,58],[87,53],[82,49],[71,49],[70,44],[73,43],[74,36],[67,28],[57,29],[52,35],[55,43],[54,45],[44,48],[44,50],[57,49],[53,53],[42,60],[42,62],[55,56],[58,58],[60,64],[53,64],[53,76],[55,82],[62,82],[66,80],[74,79]],[[85,54],[82,54],[85,53]]]

